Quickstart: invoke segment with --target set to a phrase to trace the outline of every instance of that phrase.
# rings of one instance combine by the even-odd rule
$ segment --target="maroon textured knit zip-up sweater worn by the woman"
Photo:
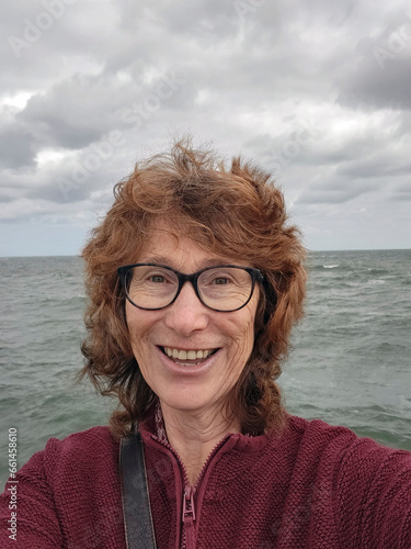
[[[141,426],[157,544],[179,548],[184,471],[153,433],[153,419]],[[118,444],[106,427],[50,439],[15,480],[0,501],[1,548],[125,548]],[[221,441],[194,503],[187,549],[410,549],[411,453],[292,416],[281,436]]]

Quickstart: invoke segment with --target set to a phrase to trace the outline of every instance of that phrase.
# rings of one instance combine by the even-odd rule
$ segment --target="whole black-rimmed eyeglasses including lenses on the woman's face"
[[[251,300],[255,282],[263,280],[259,269],[220,265],[184,274],[156,264],[126,265],[117,269],[127,300],[138,309],[158,311],[171,305],[185,282],[193,284],[199,301],[213,311],[238,311]]]

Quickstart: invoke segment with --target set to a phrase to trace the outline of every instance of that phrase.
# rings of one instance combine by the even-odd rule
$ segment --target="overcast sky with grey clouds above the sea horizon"
[[[0,0],[0,255],[75,255],[190,131],[276,175],[310,249],[411,247],[411,5]]]

